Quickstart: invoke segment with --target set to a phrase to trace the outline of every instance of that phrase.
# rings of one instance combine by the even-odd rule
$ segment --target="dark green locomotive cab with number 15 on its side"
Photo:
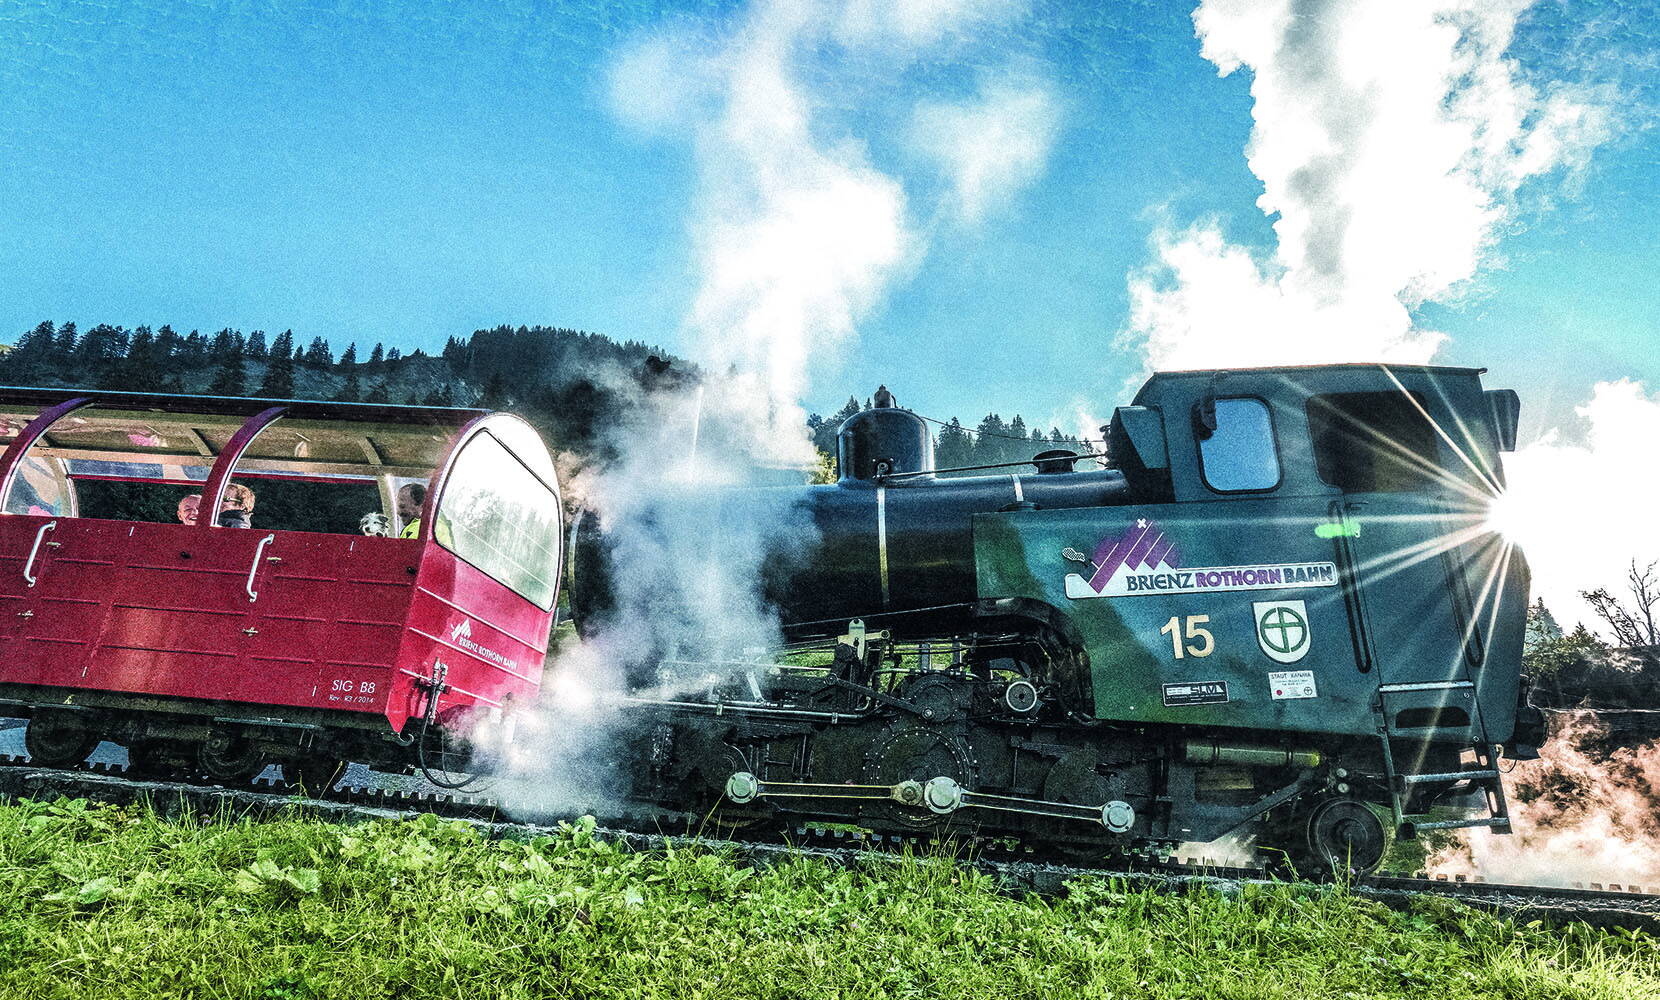
[[[1109,430],[1135,502],[976,515],[979,596],[1069,623],[1096,719],[1355,738],[1398,817],[1452,772],[1467,787],[1537,739],[1517,731],[1527,566],[1486,523],[1516,395],[1481,374],[1154,375]],[[1497,779],[1474,784],[1504,826]]]

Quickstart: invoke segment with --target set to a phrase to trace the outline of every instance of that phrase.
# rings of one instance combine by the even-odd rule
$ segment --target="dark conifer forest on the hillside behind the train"
[[[171,326],[115,324],[81,331],[50,321],[0,344],[7,385],[503,409],[535,424],[553,447],[599,462],[614,457],[608,430],[629,407],[697,377],[694,365],[642,341],[544,326],[473,331],[450,337],[437,355],[367,339],[335,352],[327,339],[294,331],[181,334]],[[810,414],[807,429],[818,450],[835,455],[842,420],[867,407],[868,399],[848,397],[830,415]],[[986,414],[974,427],[958,417],[935,424],[940,468],[1026,462],[1051,449],[1094,450],[1059,429],[1028,427],[1018,414],[1011,420]]]

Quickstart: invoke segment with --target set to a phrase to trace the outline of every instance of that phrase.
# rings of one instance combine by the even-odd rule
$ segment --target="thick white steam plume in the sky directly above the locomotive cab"
[[[1540,91],[1504,51],[1531,0],[1205,0],[1202,55],[1248,68],[1247,159],[1277,246],[1155,234],[1125,337],[1152,369],[1429,360],[1411,309],[1489,261],[1529,178],[1584,166],[1607,95]]]

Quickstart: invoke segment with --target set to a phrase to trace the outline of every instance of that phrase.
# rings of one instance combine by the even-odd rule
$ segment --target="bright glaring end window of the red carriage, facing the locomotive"
[[[450,468],[433,537],[549,608],[559,583],[559,498],[500,440],[478,434]]]

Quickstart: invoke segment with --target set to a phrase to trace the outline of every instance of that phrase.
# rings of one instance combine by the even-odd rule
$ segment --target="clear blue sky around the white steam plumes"
[[[893,178],[920,234],[817,357],[833,409],[878,380],[968,420],[1106,415],[1160,226],[1273,248],[1247,166],[1253,73],[1218,76],[1192,3],[1034,3],[906,61],[823,47],[797,68],[813,141]],[[696,352],[707,150],[619,115],[614,71],[666,33],[732,47],[744,3],[20,3],[0,0],[0,337],[42,319],[437,347],[551,324]],[[1597,83],[1587,164],[1516,191],[1474,279],[1414,311],[1436,355],[1524,392],[1529,427],[1592,384],[1660,384],[1655,15],[1547,2],[1521,78]],[[1038,81],[1041,163],[971,223],[896,136],[988,78]],[[1605,91],[1607,93],[1607,91]],[[1567,178],[1567,179],[1565,179]]]

